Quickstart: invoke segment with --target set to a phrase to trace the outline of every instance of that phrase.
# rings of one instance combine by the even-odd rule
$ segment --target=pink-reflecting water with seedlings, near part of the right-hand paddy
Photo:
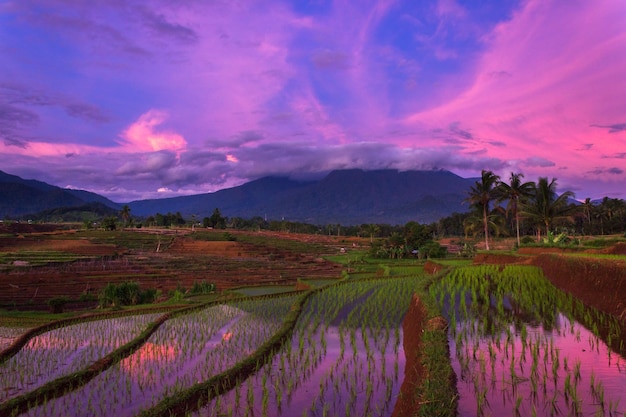
[[[625,415],[623,356],[561,311],[548,323],[520,320],[513,304],[450,331],[460,416]]]

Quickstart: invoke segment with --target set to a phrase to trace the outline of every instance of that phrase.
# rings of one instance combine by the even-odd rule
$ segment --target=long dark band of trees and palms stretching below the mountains
[[[556,235],[604,235],[626,230],[626,202],[605,197],[599,202],[587,198],[574,200],[574,193],[558,193],[557,180],[540,177],[537,182],[524,181],[522,173],[512,172],[502,180],[493,171],[483,170],[481,177],[467,192],[465,203],[470,209],[454,213],[431,224],[408,222],[405,225],[361,224],[314,225],[288,220],[270,220],[260,216],[244,219],[226,217],[219,208],[202,220],[180,213],[157,213],[134,219],[128,206],[117,219],[109,218],[106,228],[114,228],[121,219],[125,226],[181,227],[202,226],[213,229],[270,230],[291,233],[360,236],[369,238],[374,250],[383,256],[406,256],[420,248],[422,253],[437,253],[432,242],[441,237],[460,237],[470,241],[484,239],[486,249],[493,237],[512,236],[517,245],[524,242],[554,239]],[[374,238],[379,241],[374,242]],[[380,241],[380,238],[383,240]]]

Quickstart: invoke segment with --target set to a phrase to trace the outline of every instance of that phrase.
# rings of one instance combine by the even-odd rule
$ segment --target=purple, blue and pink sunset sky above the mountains
[[[116,202],[335,169],[626,198],[624,0],[0,0],[0,170]]]

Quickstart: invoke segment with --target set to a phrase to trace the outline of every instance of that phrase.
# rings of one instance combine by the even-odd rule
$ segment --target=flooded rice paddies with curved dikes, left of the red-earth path
[[[162,407],[250,357],[258,361],[254,372],[185,404],[196,409],[190,414],[391,415],[404,374],[401,324],[416,284],[415,277],[341,282],[53,329],[0,365],[0,415],[162,415]],[[261,359],[298,308],[285,342]],[[136,349],[68,383],[164,316]]]

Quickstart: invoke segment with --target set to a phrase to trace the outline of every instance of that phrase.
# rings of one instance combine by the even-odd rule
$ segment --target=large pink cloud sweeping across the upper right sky
[[[568,167],[593,175],[597,158],[626,145],[622,132],[592,126],[626,120],[625,18],[621,1],[571,7],[529,0],[485,38],[474,81],[453,100],[414,113],[407,125],[428,131],[460,123],[473,137],[464,153],[486,146],[488,155],[524,166],[530,178]],[[536,163],[544,160],[554,166]],[[572,183],[582,177],[568,176]]]

